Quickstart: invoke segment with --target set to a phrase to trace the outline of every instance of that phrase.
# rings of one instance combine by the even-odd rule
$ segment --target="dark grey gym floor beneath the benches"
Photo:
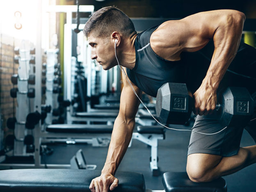
[[[190,127],[174,125],[174,128],[190,129]],[[187,161],[187,146],[190,139],[190,132],[166,130],[165,140],[158,142],[158,166],[161,172],[185,171]],[[244,130],[241,147],[254,145],[254,140]],[[69,160],[78,149],[82,149],[87,164],[97,165],[101,170],[107,156],[107,147],[92,147],[89,144],[50,144],[54,150],[53,154],[46,156],[46,163],[69,164]],[[150,148],[146,144],[133,140],[128,148],[118,171],[137,171],[144,175],[146,189],[163,190],[162,174],[154,177],[149,168]],[[250,165],[232,175],[224,176],[229,192],[255,192],[256,164]]]

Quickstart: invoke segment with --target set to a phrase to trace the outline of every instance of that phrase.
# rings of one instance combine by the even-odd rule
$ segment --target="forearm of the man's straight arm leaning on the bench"
[[[123,118],[117,117],[102,173],[115,174],[132,138],[134,126],[134,119],[125,121]]]

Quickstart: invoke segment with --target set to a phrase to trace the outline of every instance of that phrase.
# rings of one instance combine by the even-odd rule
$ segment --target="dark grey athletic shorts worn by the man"
[[[252,119],[254,118],[256,118],[256,112],[254,112]],[[207,116],[198,115],[192,130],[202,133],[216,133],[223,128],[224,126],[217,120],[217,115],[211,114]],[[256,120],[251,121],[245,129],[256,142]],[[243,127],[228,126],[222,132],[215,135],[203,135],[192,132],[187,155],[192,153],[208,153],[223,157],[236,155],[240,149],[243,130]]]

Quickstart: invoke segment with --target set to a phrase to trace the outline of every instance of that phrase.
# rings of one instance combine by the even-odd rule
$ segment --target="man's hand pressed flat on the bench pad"
[[[108,187],[110,186],[110,191],[114,190],[119,181],[110,173],[101,174],[101,176],[94,178],[91,181],[89,189],[91,192],[108,192]]]

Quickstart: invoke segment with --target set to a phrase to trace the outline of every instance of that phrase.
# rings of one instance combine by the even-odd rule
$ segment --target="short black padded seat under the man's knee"
[[[226,192],[227,185],[224,178],[212,182],[192,182],[186,172],[166,172],[163,174],[162,183],[165,192]]]

